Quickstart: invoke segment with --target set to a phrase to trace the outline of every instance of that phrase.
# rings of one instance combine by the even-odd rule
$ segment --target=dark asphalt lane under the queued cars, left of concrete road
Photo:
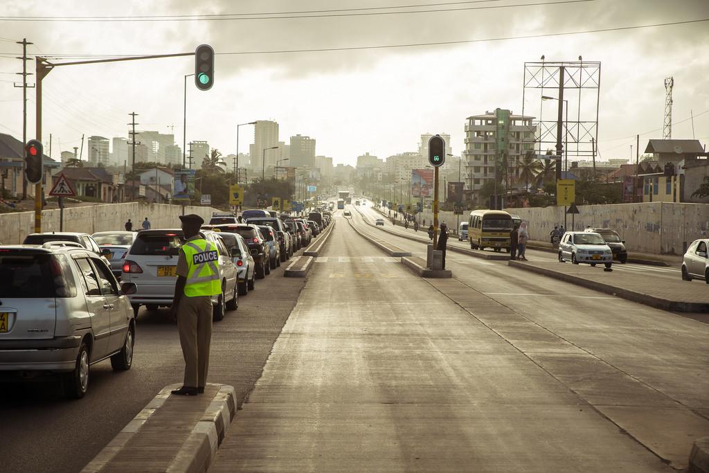
[[[238,310],[213,325],[208,382],[234,386],[239,403],[261,375],[303,287],[303,279],[283,277],[286,264],[257,279]],[[160,389],[182,382],[177,325],[168,319],[166,309],[143,308],[133,367],[113,372],[108,361],[94,365],[89,392],[79,401],[65,400],[55,384],[0,384],[0,472],[77,472]]]

